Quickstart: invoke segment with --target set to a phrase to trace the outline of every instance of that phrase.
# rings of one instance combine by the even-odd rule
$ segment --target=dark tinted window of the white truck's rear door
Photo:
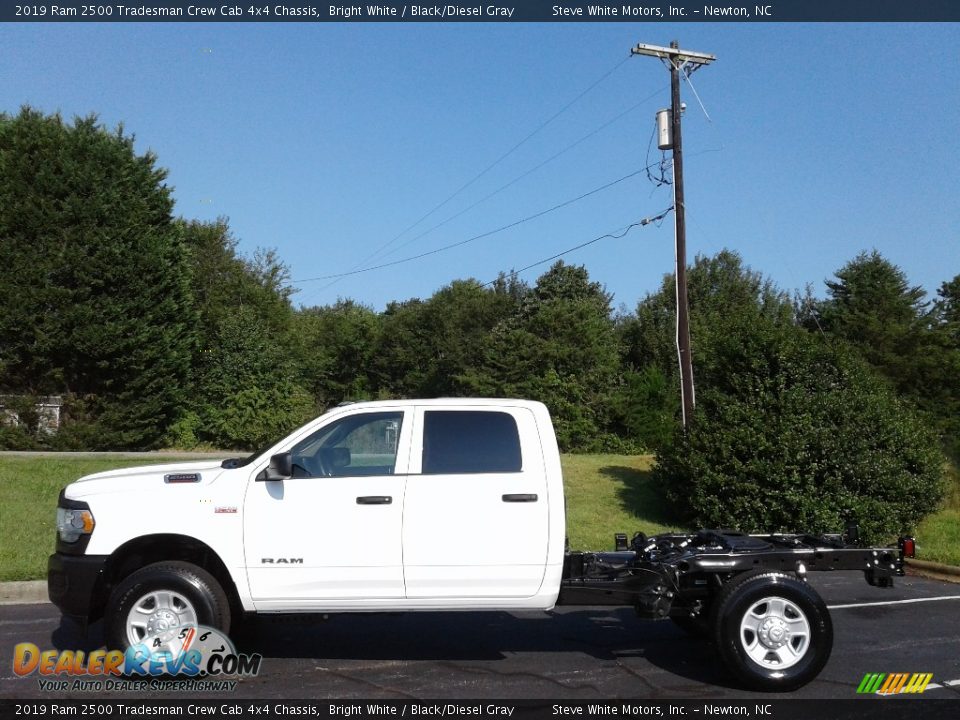
[[[424,475],[520,472],[517,421],[505,412],[428,410],[424,413]]]

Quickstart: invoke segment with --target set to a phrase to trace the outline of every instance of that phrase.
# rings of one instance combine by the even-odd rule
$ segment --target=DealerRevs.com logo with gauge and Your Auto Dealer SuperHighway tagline
[[[41,690],[233,690],[260,672],[259,654],[238,653],[230,638],[203,625],[179,628],[176,638],[155,638],[124,650],[40,650],[33,643],[13,649],[13,672],[38,675]]]

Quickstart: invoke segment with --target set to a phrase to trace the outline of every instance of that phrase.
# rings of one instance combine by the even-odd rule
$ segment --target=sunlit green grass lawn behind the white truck
[[[82,475],[118,467],[170,462],[176,457],[0,456],[0,581],[46,576],[53,552],[57,497]],[[678,529],[650,477],[649,455],[564,455],[567,534],[575,550],[612,550],[613,534]],[[960,565],[960,473],[940,512],[917,528],[918,554]]]

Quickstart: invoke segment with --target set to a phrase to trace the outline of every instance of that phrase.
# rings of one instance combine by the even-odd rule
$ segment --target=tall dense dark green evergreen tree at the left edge
[[[193,315],[165,178],[95,117],[0,115],[2,391],[66,395],[99,447],[155,445],[185,398]]]

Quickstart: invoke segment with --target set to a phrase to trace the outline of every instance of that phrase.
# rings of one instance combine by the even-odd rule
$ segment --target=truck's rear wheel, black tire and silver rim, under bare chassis
[[[833,649],[833,624],[809,585],[777,572],[734,578],[717,596],[713,640],[747,687],[795,690],[813,680]]]

